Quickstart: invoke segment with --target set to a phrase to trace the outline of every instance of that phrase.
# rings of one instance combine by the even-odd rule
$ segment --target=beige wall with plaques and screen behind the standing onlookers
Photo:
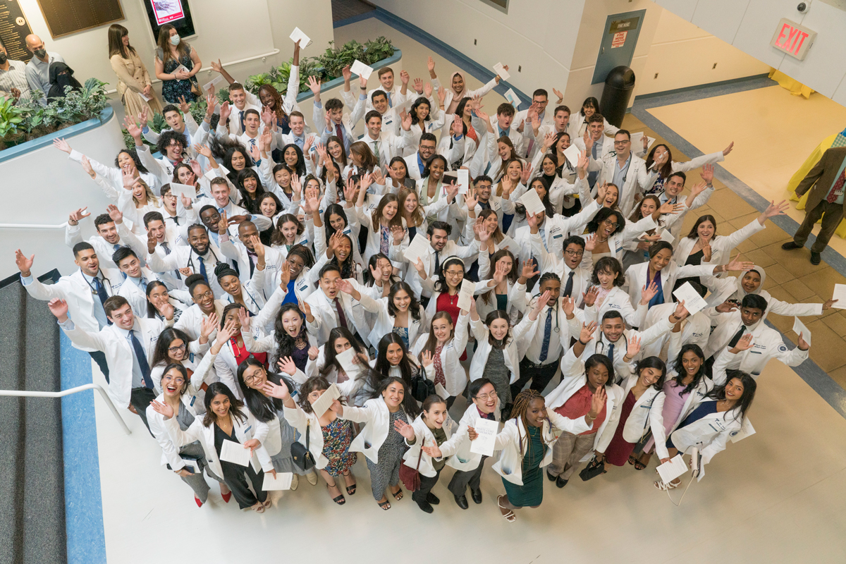
[[[53,40],[37,0],[20,0],[20,4],[33,33],[41,36],[48,51],[64,57],[80,82],[95,76],[108,82],[110,90],[117,86],[117,77],[108,62],[108,25]],[[121,5],[125,19],[117,23],[129,30],[129,41],[152,77],[155,46],[144,4],[141,0],[122,0]],[[272,64],[290,58],[294,45],[288,36],[294,25],[314,41],[304,53],[309,57],[325,49],[334,35],[331,0],[305,3],[299,0],[190,0],[190,7],[197,35],[188,41],[200,55],[203,68],[208,68],[212,59],[220,58],[222,63],[228,63],[272,52],[274,48],[280,50],[276,57],[268,57],[265,61],[256,59],[229,68],[236,79],[266,72]],[[291,19],[291,14],[295,14],[296,19]],[[211,70],[203,70],[198,79],[204,83],[212,76]],[[161,85],[157,85],[156,90],[161,92]]]

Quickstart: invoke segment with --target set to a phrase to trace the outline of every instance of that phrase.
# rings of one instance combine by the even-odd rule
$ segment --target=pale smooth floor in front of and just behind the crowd
[[[424,47],[380,22],[336,34],[338,44],[390,36],[403,49],[404,68],[425,76]],[[448,75],[453,65],[438,60],[438,74]],[[500,97],[492,96],[489,109]],[[95,379],[102,383],[99,372]],[[140,419],[124,412],[133,430],[126,436],[95,400],[108,561],[846,561],[846,420],[782,364],[769,364],[759,383],[751,410],[756,435],[717,455],[681,507],[652,487],[654,463],[642,472],[626,465],[590,482],[574,475],[563,490],[545,481],[541,507],[520,511],[516,523],[500,517],[495,496],[503,485],[490,470],[481,506],[455,505],[448,469],[434,490],[442,500],[434,514],[408,494],[383,512],[361,456],[359,489],[343,507],[322,480],[311,486],[303,479],[263,515],[240,512],[234,500],[224,504],[216,485],[198,508],[190,488],[159,466],[159,447]],[[462,411],[459,400],[453,416]],[[680,492],[672,493],[678,501]]]

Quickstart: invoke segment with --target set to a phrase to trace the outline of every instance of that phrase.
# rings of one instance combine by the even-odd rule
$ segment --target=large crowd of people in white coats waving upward
[[[214,63],[229,101],[208,93],[200,124],[173,105],[159,132],[128,115],[135,146],[113,163],[55,142],[113,204],[87,240],[93,211],[70,213],[77,271],[42,284],[19,249],[21,281],[198,506],[209,479],[264,512],[270,484],[318,475],[343,505],[359,454],[378,507],[405,488],[429,513],[445,468],[459,507],[468,490],[482,503],[492,457],[508,522],[541,504],[544,474],[563,488],[582,461],[583,479],[602,479],[696,448],[701,479],[749,424],[767,362],[808,358],[766,315],[833,300],[773,298],[764,269],[733,255],[787,205],[733,232],[710,215],[682,231],[733,144],[674,161],[645,136],[633,146],[595,98],[571,110],[554,89],[553,105],[539,89],[528,109],[489,115],[498,76],[470,90],[427,63],[426,80],[345,68],[326,101],[310,79],[316,131],[296,96],[254,96]]]

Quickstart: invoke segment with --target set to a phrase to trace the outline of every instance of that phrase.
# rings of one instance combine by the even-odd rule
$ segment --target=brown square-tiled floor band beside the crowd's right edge
[[[789,96],[787,90],[785,90],[785,96]],[[656,142],[667,143],[659,134],[646,128],[640,119],[631,114],[626,115],[624,127],[633,132],[647,131],[650,136],[657,138]],[[733,139],[730,131],[726,135],[729,139]],[[673,151],[673,159],[684,161],[689,158],[674,145],[669,143],[667,145]],[[715,151],[717,148],[709,150]],[[736,158],[733,152],[728,156],[727,162],[733,162]],[[742,171],[735,174],[745,182],[741,176]],[[699,181],[699,170],[689,173],[688,185]],[[759,215],[758,211],[716,178],[714,187],[717,191],[711,196],[708,205],[685,217],[682,233],[687,233],[696,219],[706,214],[714,216],[718,230],[721,225],[728,223],[731,226],[728,231],[744,227]],[[792,205],[795,206],[795,203],[793,202]],[[764,289],[771,293],[773,298],[788,302],[824,302],[831,298],[834,284],[846,283],[846,277],[831,266],[827,266],[825,262],[819,266],[811,265],[807,249],[783,250],[781,245],[791,238],[783,229],[768,222],[764,231],[755,233],[739,244],[738,250],[744,254],[744,258],[752,260],[766,271]],[[791,331],[793,317],[773,314],[769,315],[767,320],[796,342],[798,336]],[[804,322],[813,337],[810,358],[838,384],[846,387],[846,354],[844,354],[846,351],[846,310],[828,309],[821,317],[805,318]]]

